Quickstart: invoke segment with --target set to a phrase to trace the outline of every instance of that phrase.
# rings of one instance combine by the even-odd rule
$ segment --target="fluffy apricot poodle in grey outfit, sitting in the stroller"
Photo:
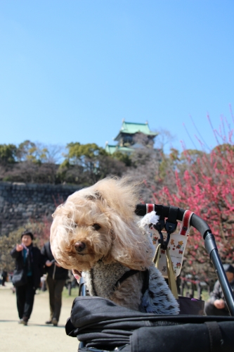
[[[134,213],[137,188],[126,178],[105,178],[69,196],[53,214],[53,256],[75,276],[82,272],[92,296],[142,312],[178,314]]]

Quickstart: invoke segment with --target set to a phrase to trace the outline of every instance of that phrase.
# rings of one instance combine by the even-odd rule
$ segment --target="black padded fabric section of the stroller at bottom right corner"
[[[134,352],[231,352],[233,322],[184,323],[164,327],[141,327],[130,337]]]

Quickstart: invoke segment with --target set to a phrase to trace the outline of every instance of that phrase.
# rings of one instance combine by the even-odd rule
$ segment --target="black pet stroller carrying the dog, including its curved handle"
[[[173,206],[138,205],[136,214],[143,216],[151,210],[160,215],[157,223],[171,234],[177,221],[183,220],[186,210]],[[167,221],[164,222],[164,219]],[[81,279],[79,297],[75,298],[66,333],[77,337],[79,352],[233,352],[234,351],[234,296],[219,258],[214,235],[202,218],[193,214],[190,224],[204,239],[217,277],[221,284],[230,317],[203,315],[155,315],[117,306],[112,301],[86,296]],[[157,229],[157,230],[158,230]],[[161,244],[167,246],[169,239]]]

